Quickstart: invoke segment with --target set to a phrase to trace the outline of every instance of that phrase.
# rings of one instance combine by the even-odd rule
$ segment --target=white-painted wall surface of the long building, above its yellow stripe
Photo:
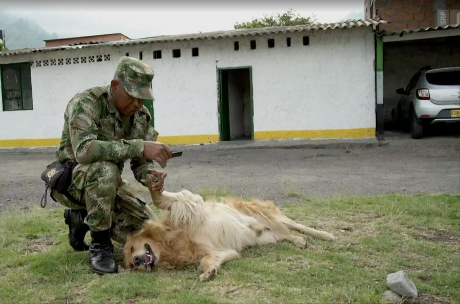
[[[302,36],[310,45],[302,45]],[[291,37],[290,48],[286,37]],[[267,48],[267,39],[275,47]],[[257,49],[249,50],[256,39]],[[234,41],[240,50],[234,51]],[[199,47],[199,56],[191,48]],[[172,58],[172,49],[181,49]],[[162,59],[153,59],[153,50]],[[375,127],[371,28],[157,43],[0,57],[0,64],[110,54],[110,61],[31,68],[32,111],[0,111],[0,140],[60,137],[73,95],[107,85],[126,52],[153,66],[155,127],[162,136],[218,134],[217,68],[252,67],[254,131]]]

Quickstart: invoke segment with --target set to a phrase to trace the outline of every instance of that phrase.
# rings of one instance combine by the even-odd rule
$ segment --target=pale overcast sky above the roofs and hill
[[[123,33],[130,38],[231,30],[237,21],[249,21],[293,9],[320,23],[342,20],[362,12],[364,0],[278,1],[23,1],[2,0],[6,13],[36,21],[59,37]]]

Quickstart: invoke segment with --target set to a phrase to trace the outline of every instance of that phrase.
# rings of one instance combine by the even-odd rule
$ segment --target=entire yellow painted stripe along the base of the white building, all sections
[[[357,129],[332,129],[332,130],[291,130],[291,131],[258,131],[255,139],[291,139],[291,138],[369,138],[375,137],[375,128]],[[35,138],[35,139],[0,139],[0,147],[47,147],[58,146],[59,138]],[[158,141],[168,145],[190,145],[200,143],[215,143],[219,141],[219,135],[184,135],[184,136],[159,136]]]

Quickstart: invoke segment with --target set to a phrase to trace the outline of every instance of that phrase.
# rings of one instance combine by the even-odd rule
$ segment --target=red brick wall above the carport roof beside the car
[[[448,24],[460,23],[460,0],[375,0],[374,10],[374,18],[390,21],[382,30],[436,27],[440,10],[447,12]]]

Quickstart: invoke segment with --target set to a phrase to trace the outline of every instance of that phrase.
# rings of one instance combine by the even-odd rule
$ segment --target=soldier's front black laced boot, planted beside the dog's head
[[[117,263],[113,258],[113,245],[110,241],[110,230],[91,231],[91,246],[89,246],[89,264],[94,273],[116,273]]]

